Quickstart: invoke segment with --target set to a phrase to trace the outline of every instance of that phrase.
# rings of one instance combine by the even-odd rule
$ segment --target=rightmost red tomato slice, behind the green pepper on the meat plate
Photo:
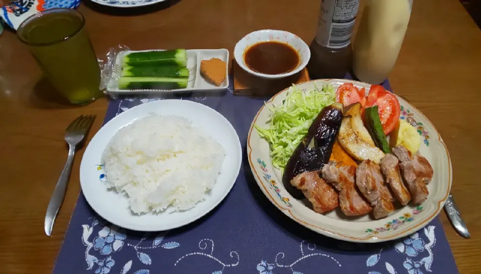
[[[365,107],[378,106],[384,134],[389,134],[398,123],[401,115],[401,106],[394,94],[386,91],[380,85],[372,85],[367,96]]]

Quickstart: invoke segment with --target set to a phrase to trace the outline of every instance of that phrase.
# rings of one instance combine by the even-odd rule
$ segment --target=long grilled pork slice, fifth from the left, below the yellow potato
[[[412,201],[415,204],[422,203],[429,195],[426,184],[422,178],[417,177],[412,165],[411,153],[403,146],[396,146],[392,149],[392,153],[396,155],[401,164],[402,175],[406,181],[409,191],[411,192]]]

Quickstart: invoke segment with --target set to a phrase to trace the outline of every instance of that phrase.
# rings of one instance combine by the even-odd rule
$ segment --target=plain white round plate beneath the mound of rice
[[[174,213],[131,212],[127,197],[108,190],[106,176],[100,158],[115,133],[137,119],[151,113],[182,116],[190,121],[225,149],[221,173],[208,198],[195,207]],[[176,228],[197,220],[217,206],[229,193],[242,163],[242,148],[232,125],[215,110],[186,100],[160,100],[133,107],[110,120],[95,134],[85,150],[80,164],[80,185],[87,202],[104,219],[118,226],[139,231],[160,231]]]

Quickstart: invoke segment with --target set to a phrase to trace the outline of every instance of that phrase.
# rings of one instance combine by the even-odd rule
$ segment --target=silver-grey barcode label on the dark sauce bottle
[[[359,0],[321,0],[316,41],[328,48],[344,48],[351,43]]]

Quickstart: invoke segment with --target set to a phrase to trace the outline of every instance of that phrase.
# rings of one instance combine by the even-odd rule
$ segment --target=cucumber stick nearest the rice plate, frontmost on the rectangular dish
[[[121,77],[119,89],[185,89],[187,83],[188,77]]]

